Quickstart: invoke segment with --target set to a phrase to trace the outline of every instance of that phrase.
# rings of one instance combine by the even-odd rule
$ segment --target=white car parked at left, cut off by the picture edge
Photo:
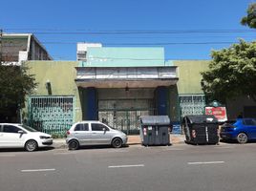
[[[38,147],[53,144],[49,134],[38,132],[24,124],[0,123],[0,148],[25,148],[35,151]]]

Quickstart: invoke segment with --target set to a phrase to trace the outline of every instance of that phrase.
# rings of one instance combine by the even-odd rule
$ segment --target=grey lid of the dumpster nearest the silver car
[[[170,118],[168,116],[145,116],[140,117],[140,122],[143,125],[169,125]]]

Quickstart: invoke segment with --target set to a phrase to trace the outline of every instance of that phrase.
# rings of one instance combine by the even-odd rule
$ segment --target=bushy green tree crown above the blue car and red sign
[[[205,95],[223,102],[235,96],[250,96],[256,101],[256,41],[240,40],[211,56],[209,70],[202,73]]]

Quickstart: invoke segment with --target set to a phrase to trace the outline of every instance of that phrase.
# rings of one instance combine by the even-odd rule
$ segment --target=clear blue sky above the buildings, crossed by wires
[[[240,24],[247,6],[253,2],[2,1],[0,28],[4,32],[34,32],[57,60],[75,60],[76,42],[101,42],[108,47],[164,47],[165,59],[210,59],[211,50],[229,47],[229,42],[237,42],[239,38],[255,39],[256,31]]]

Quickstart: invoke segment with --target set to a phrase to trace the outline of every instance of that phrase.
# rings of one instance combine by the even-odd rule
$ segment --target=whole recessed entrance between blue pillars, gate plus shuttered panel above
[[[104,89],[98,93],[98,120],[128,135],[139,134],[139,117],[155,113],[154,89]]]

